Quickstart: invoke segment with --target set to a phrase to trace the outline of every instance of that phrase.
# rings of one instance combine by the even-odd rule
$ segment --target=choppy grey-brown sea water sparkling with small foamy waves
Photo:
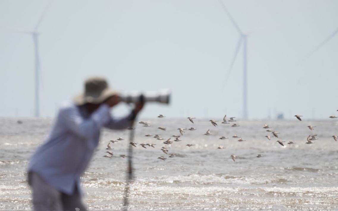
[[[51,118],[0,119],[0,210],[32,210],[31,191],[26,182],[28,159],[48,135]],[[276,121],[237,119],[240,127],[214,127],[206,119],[143,119],[151,127],[136,124],[135,142],[154,143],[155,148],[133,148],[134,182],[130,184],[129,210],[338,210],[338,123],[328,121]],[[280,132],[271,135],[264,123]],[[308,125],[316,126],[313,131]],[[166,127],[163,131],[158,127]],[[171,145],[145,137],[161,134],[168,139],[177,128],[195,127]],[[210,129],[211,136],[203,135]],[[239,135],[244,140],[238,142]],[[308,135],[318,134],[314,144]],[[221,136],[229,137],[220,140]],[[109,140],[112,158],[103,157]],[[103,130],[99,146],[82,176],[84,201],[89,210],[121,210],[129,131]],[[175,138],[171,138],[174,140]],[[283,140],[282,147],[277,140]],[[289,145],[291,140],[296,142]],[[196,144],[187,147],[186,144]],[[225,149],[217,149],[219,146]],[[160,149],[169,148],[176,157]],[[257,158],[257,154],[263,157]],[[239,157],[234,162],[231,155]],[[62,156],[62,155],[60,155]],[[52,159],[52,158],[51,158]]]

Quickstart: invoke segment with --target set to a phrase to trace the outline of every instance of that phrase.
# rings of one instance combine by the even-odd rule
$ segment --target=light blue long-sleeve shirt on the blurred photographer
[[[115,119],[105,104],[89,114],[84,106],[66,102],[49,135],[31,157],[28,172],[38,173],[57,190],[72,194],[75,186],[80,190],[80,176],[98,145],[100,129],[130,125],[130,116]]]

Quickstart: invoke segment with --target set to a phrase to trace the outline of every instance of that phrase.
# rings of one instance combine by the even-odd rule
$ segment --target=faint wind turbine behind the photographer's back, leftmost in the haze
[[[46,6],[44,12],[42,13],[37,25],[35,25],[33,31],[29,31],[26,33],[30,33],[33,37],[33,42],[34,42],[34,51],[35,51],[35,73],[34,73],[34,78],[35,78],[35,109],[34,109],[34,116],[39,117],[40,116],[40,106],[39,106],[39,94],[40,94],[40,86],[39,86],[39,78],[40,78],[40,58],[39,58],[39,32],[38,32],[38,27],[40,26],[44,16],[46,15],[47,9],[50,5],[50,2]]]

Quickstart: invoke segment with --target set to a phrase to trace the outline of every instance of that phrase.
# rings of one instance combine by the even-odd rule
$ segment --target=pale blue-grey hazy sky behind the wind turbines
[[[223,2],[250,33],[249,118],[338,115],[338,34],[303,60],[338,29],[338,1]],[[33,39],[17,30],[33,30],[47,5],[0,0],[2,117],[33,115]],[[42,116],[54,116],[92,75],[119,90],[172,91],[169,106],[147,105],[141,118],[242,116],[243,49],[221,90],[239,34],[218,0],[54,0],[38,31]]]

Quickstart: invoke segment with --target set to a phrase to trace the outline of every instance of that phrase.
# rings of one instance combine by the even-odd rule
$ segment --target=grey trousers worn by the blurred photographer
[[[75,188],[67,195],[48,184],[39,174],[30,172],[28,183],[33,191],[33,206],[35,211],[86,211],[81,194]]]

